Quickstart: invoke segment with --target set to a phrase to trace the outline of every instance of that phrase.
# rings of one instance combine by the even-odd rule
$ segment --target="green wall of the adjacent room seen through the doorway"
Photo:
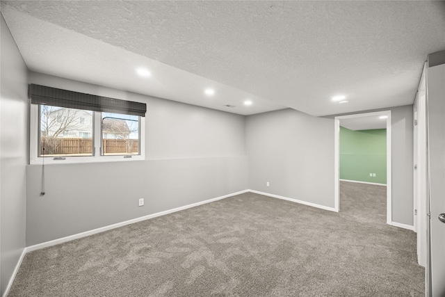
[[[387,183],[387,129],[340,127],[340,179]]]

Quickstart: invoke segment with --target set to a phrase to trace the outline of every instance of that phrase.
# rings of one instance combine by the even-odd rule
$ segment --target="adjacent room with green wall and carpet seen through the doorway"
[[[341,118],[339,129],[339,182],[344,198],[339,201],[339,210],[360,209],[382,223],[392,221],[388,207],[392,195],[387,188],[391,184],[387,181],[387,171],[391,172],[388,113],[348,115]]]

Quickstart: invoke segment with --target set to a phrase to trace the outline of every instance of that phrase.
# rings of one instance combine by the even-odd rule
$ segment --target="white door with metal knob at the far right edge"
[[[445,296],[445,64],[428,67],[430,296]],[[427,271],[428,273],[428,268]]]

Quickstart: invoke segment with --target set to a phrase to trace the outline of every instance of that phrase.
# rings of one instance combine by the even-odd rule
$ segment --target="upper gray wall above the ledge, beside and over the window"
[[[145,158],[245,154],[244,116],[31,72],[31,83],[144,102]]]

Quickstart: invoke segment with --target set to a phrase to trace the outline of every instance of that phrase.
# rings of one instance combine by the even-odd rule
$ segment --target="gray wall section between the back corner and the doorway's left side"
[[[245,130],[252,190],[334,207],[334,120],[284,109],[249,115]]]

